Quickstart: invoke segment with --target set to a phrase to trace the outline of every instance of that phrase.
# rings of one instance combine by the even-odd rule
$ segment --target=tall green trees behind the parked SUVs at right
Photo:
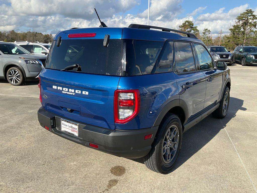
[[[194,33],[205,45],[219,45],[225,46],[228,50],[234,50],[238,45],[254,45],[257,46],[257,15],[252,9],[247,9],[236,17],[235,24],[228,27],[229,34],[213,38],[211,31],[205,28],[199,32],[197,26],[192,21],[186,20],[177,29]],[[181,34],[185,36],[185,34]]]

